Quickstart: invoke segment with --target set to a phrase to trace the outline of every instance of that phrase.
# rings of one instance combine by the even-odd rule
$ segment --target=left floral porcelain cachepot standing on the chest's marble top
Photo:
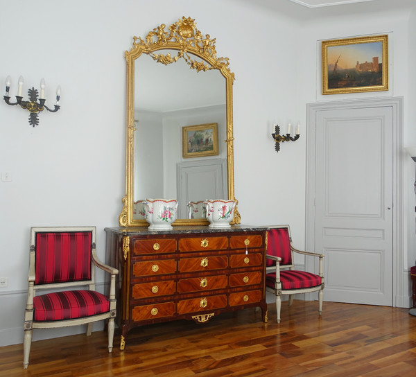
[[[146,199],[144,207],[149,230],[173,229],[172,222],[176,220],[177,200]]]

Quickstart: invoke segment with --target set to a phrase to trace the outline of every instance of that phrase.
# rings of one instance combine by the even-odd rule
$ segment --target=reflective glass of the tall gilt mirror
[[[165,66],[145,54],[135,60],[133,219],[144,219],[146,198],[177,198],[177,218],[202,218],[202,211],[189,211],[189,202],[227,198],[226,120],[225,78],[218,69],[198,72],[184,60]],[[218,155],[184,158],[182,128],[207,123],[218,125]],[[192,141],[192,150],[208,140]]]

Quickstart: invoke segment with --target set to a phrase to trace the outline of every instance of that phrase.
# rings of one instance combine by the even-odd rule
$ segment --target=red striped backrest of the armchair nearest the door
[[[291,231],[288,225],[269,229],[267,232],[267,254],[279,256],[280,265],[292,265]],[[266,265],[275,265],[275,261],[268,259]]]

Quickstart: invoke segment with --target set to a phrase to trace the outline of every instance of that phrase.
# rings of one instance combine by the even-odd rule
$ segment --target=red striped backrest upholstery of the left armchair
[[[35,284],[91,279],[90,231],[36,234]]]

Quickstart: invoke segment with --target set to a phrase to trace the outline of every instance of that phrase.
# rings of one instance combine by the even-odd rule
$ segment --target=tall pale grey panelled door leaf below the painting
[[[392,107],[315,113],[315,250],[325,301],[392,306]]]

